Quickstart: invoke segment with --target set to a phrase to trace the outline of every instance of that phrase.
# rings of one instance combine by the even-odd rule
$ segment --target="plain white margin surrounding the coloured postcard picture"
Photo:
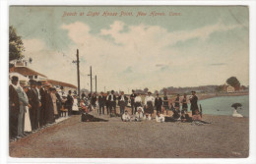
[[[249,6],[250,12],[250,154],[248,158],[10,158],[8,155],[8,28],[9,28],[9,6],[10,5],[43,5],[43,6],[73,6],[73,5],[245,5]],[[128,1],[128,0],[0,0],[0,67],[1,77],[6,79],[0,81],[0,131],[1,131],[1,163],[256,163],[256,87],[255,87],[255,70],[256,70],[256,1],[247,0],[229,0],[229,1]],[[242,69],[242,68],[241,68]],[[4,132],[4,133],[3,133]]]

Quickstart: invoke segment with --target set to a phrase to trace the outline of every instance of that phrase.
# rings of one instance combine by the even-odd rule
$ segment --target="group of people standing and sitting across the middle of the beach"
[[[118,95],[114,90],[108,91],[106,93],[100,92],[97,96],[96,93],[88,96],[82,93],[82,104],[85,106],[84,99],[90,101],[93,109],[97,110],[99,115],[109,115],[110,117],[121,117],[124,122],[127,121],[150,121],[153,120],[154,111],[157,111],[157,115],[154,118],[157,122],[192,122],[192,121],[202,121],[202,113],[198,108],[198,97],[196,96],[196,91],[191,91],[192,96],[187,97],[187,94],[183,94],[181,97],[179,94],[176,95],[175,99],[172,100],[167,96],[166,92],[162,97],[156,94],[156,97],[152,95],[152,92],[148,92],[145,100],[143,102],[142,95],[135,93],[132,90],[131,95],[125,95],[123,91]],[[188,103],[190,101],[190,110],[192,111],[192,117],[188,114]],[[131,115],[125,107],[131,106]],[[116,112],[117,105],[119,106],[119,113]],[[92,110],[93,110],[92,109]],[[90,110],[88,110],[90,111]],[[163,111],[166,115],[163,115]],[[170,112],[172,115],[170,116]]]

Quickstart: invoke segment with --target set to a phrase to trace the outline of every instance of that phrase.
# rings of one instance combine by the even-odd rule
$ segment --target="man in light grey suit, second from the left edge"
[[[29,105],[29,98],[24,91],[25,81],[20,81],[20,85],[17,87],[17,93],[20,101],[20,112],[18,118],[18,138],[24,137],[24,120],[25,120],[25,107]]]

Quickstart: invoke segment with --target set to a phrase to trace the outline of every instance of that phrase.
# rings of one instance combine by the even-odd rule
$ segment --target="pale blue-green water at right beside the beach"
[[[198,105],[202,105],[203,114],[230,116],[233,112],[231,105],[236,102],[242,104],[241,110],[238,110],[238,113],[244,117],[249,117],[249,95],[214,97],[199,100]]]

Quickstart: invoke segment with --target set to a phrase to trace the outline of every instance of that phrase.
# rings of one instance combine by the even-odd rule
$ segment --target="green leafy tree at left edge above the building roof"
[[[22,37],[17,35],[14,27],[9,27],[9,61],[24,58],[24,51]]]

